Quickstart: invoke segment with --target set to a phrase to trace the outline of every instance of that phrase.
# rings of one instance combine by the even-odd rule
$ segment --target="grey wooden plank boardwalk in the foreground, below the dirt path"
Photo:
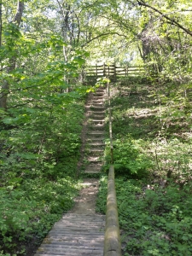
[[[46,236],[35,256],[103,254],[105,217],[64,214]]]

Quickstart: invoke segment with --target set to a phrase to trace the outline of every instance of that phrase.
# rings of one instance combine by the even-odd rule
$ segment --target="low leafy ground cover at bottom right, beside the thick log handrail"
[[[107,179],[102,177],[100,181],[100,212],[105,212]],[[165,189],[124,178],[116,178],[115,183],[125,255],[191,255],[189,187],[180,190],[171,184]]]

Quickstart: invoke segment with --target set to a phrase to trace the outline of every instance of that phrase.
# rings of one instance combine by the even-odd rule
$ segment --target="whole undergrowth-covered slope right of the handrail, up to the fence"
[[[192,123],[185,87],[131,79],[113,84],[113,160],[125,256],[192,255]],[[104,172],[110,165],[106,145]],[[107,180],[100,179],[98,212],[106,211]]]

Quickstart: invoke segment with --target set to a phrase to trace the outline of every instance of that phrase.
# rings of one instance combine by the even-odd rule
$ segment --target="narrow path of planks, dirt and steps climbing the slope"
[[[90,94],[85,106],[84,147],[85,173],[98,173],[102,167],[104,149],[104,96],[98,89]],[[75,199],[73,209],[55,223],[44,238],[35,256],[100,255],[103,254],[105,216],[96,214],[98,179],[85,178],[84,189]]]

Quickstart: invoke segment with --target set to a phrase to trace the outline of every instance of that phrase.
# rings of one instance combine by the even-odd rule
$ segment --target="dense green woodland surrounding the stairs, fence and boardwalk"
[[[0,1],[0,255],[31,255],[73,206],[82,71],[103,62],[145,68],[112,84],[125,255],[192,255],[191,19],[189,0]],[[108,137],[105,163],[99,212]]]

